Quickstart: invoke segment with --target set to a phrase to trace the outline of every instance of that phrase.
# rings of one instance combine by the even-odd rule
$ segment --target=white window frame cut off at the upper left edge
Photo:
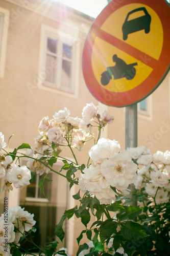
[[[0,7],[0,77],[5,75],[5,61],[10,12]]]

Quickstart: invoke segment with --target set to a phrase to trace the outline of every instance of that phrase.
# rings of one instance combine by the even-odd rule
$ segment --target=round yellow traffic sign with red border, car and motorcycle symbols
[[[169,70],[170,9],[164,0],[113,0],[94,20],[83,50],[92,95],[126,106],[150,95]]]

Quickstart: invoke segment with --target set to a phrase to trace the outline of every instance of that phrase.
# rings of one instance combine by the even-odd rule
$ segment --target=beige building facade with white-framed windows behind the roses
[[[44,116],[52,118],[66,107],[71,116],[81,118],[83,107],[90,102],[114,116],[102,136],[118,140],[125,149],[126,108],[98,102],[83,78],[82,52],[92,22],[93,18],[54,0],[0,0],[0,124],[6,141],[15,135],[10,140],[11,151],[23,142],[34,144]],[[152,95],[138,103],[138,145],[151,153],[169,150],[169,99],[170,73]],[[87,162],[90,145],[78,152],[80,164]],[[70,154],[64,154],[71,159]],[[61,166],[58,162],[55,169]],[[52,175],[52,179],[52,185],[45,185],[47,198],[38,189],[39,176],[30,186],[8,194],[9,207],[21,205],[35,214],[36,242],[41,245],[56,239],[55,225],[66,208],[75,206],[72,195],[76,191],[69,191],[62,177]],[[2,180],[0,184],[2,187]],[[1,213],[4,197],[1,193]],[[70,219],[65,225],[66,237],[60,247],[67,247],[70,255],[76,255],[80,230],[79,220]]]

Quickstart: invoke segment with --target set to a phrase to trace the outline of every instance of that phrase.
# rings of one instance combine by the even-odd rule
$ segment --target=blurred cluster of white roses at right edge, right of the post
[[[157,151],[153,156],[144,146],[127,149],[133,159],[141,165],[137,173],[136,189],[145,188],[145,192],[155,197],[157,204],[170,198],[170,151]]]

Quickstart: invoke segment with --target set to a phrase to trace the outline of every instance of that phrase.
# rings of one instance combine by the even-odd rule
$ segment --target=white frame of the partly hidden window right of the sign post
[[[152,120],[152,95],[145,98],[145,100],[147,100],[147,110],[140,110],[140,102],[137,103],[138,116]]]

